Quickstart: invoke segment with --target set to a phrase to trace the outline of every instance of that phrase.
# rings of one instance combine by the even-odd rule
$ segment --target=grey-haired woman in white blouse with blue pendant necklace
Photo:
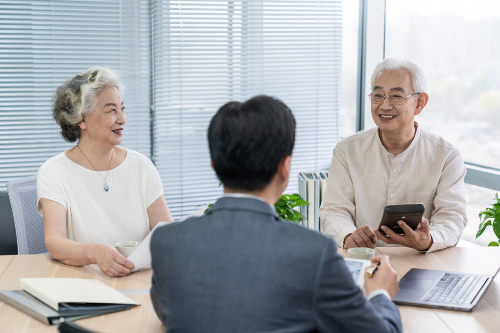
[[[96,67],[57,88],[52,115],[68,142],[77,144],[38,170],[38,212],[53,259],[97,264],[110,277],[133,265],[113,245],[142,240],[159,221],[172,221],[151,161],[119,147],[126,123],[123,85]]]

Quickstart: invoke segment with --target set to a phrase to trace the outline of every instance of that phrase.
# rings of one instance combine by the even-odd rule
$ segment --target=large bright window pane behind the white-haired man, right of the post
[[[500,167],[500,2],[386,1],[385,56],[409,56],[427,76],[415,120],[465,162]]]

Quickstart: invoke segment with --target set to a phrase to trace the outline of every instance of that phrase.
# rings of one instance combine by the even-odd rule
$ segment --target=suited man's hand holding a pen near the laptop
[[[375,289],[385,289],[392,300],[399,291],[399,281],[397,280],[397,273],[390,266],[388,257],[374,257],[370,261],[373,264],[380,264],[380,267],[375,273],[368,277],[366,270],[364,271],[364,290],[366,295],[369,295]]]

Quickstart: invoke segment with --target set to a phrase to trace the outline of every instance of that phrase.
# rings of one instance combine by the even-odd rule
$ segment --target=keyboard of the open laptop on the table
[[[481,277],[445,273],[422,298],[424,302],[462,304]]]

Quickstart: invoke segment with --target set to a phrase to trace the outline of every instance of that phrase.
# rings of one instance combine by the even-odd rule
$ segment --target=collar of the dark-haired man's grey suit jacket
[[[274,217],[278,221],[280,220],[274,207],[271,207],[263,200],[246,195],[223,196],[213,204],[207,214],[222,210],[253,212]]]

